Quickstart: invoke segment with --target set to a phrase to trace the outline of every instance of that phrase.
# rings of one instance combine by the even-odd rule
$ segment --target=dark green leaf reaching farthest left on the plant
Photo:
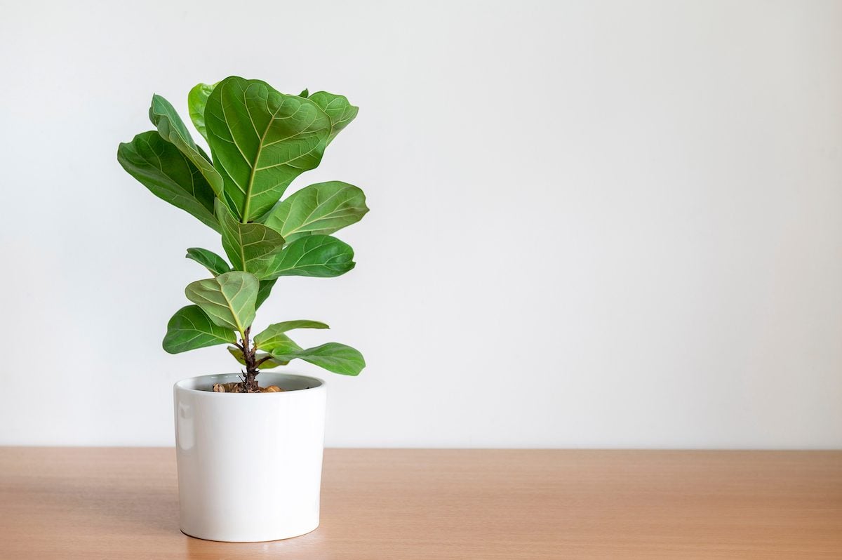
[[[179,148],[156,131],[141,132],[131,142],[121,143],[117,161],[153,195],[220,231],[210,184]]]

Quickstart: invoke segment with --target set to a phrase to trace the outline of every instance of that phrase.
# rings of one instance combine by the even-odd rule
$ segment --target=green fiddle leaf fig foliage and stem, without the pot
[[[342,181],[311,184],[283,198],[358,109],[333,93],[280,93],[268,83],[226,77],[188,95],[190,120],[210,148],[198,145],[167,99],[152,96],[155,130],[120,144],[117,160],[158,198],[187,211],[221,236],[220,254],[187,249],[210,278],[187,285],[193,303],[169,320],[163,349],[171,354],[227,344],[242,366],[239,392],[259,392],[260,369],[305,360],[356,376],[359,351],[330,342],[301,348],[289,336],[318,321],[274,323],[253,334],[258,307],[281,276],[331,278],[354,268],[354,250],[333,237],[365,215],[363,191]]]

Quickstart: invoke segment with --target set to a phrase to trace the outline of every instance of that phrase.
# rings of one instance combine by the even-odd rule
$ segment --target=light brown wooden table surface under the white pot
[[[173,449],[0,448],[0,558],[842,558],[842,451],[328,450],[322,525],[179,532]]]

